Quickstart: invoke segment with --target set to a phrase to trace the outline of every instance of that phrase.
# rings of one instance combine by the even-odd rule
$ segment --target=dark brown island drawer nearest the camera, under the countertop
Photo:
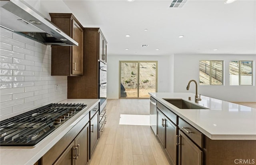
[[[203,148],[203,134],[194,128],[192,125],[184,121],[179,117],[179,128],[184,132],[190,139],[194,141],[199,147]]]

